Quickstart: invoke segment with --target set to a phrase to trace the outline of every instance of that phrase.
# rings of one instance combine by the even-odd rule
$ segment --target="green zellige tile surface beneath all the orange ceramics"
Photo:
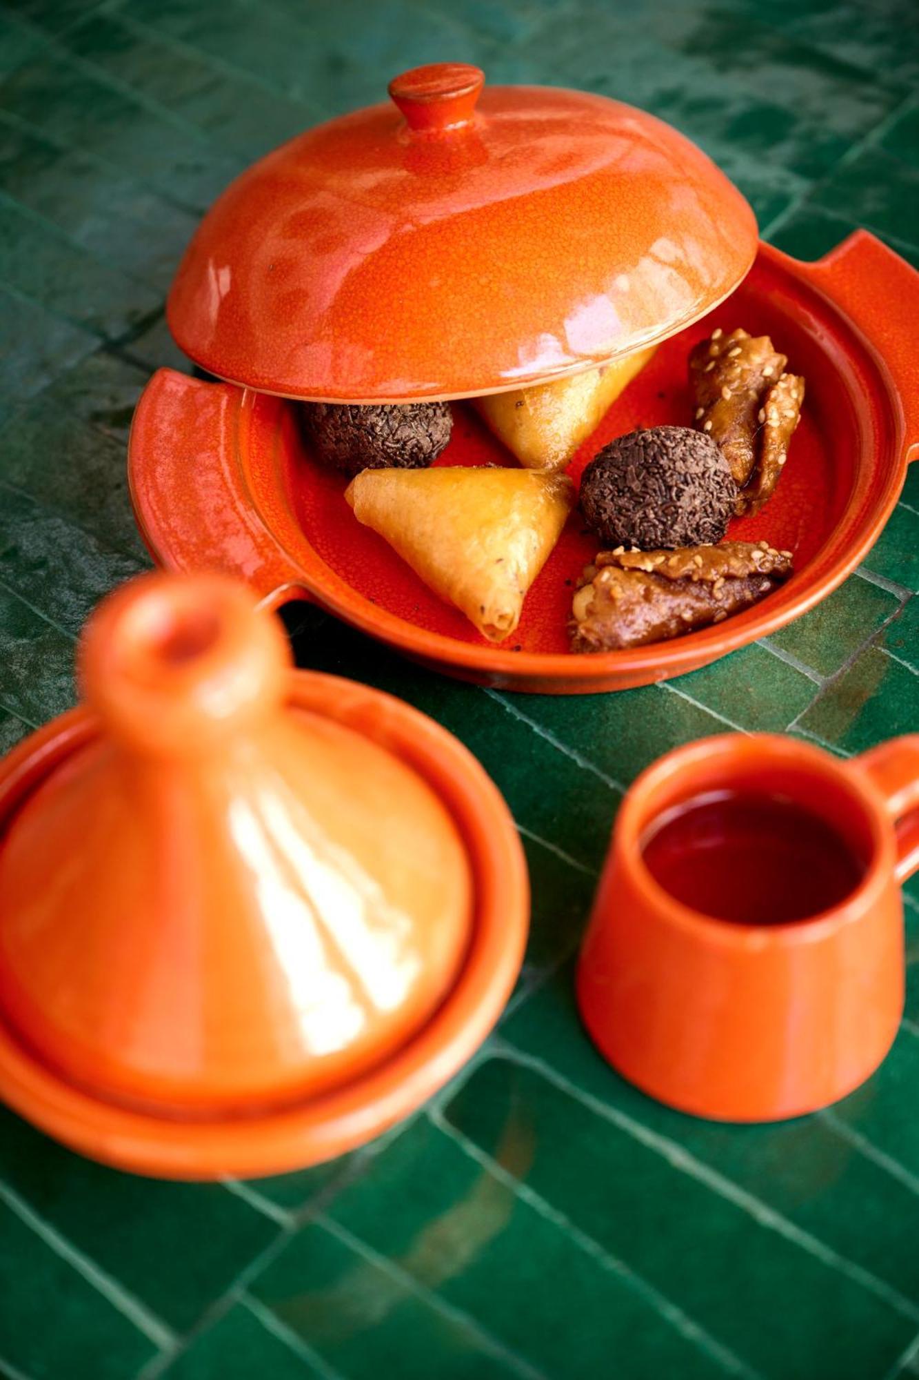
[[[646,106],[792,254],[865,225],[919,264],[915,0],[0,4],[0,751],[72,704],[80,625],[146,564],[124,444],[150,370],[186,367],[163,295],[197,218],[253,157],[444,58]],[[534,883],[519,988],[410,1125],[277,1180],[132,1179],[0,1111],[0,1376],[919,1376],[919,883],[900,1038],[817,1116],[658,1107],[571,998],[635,774],[726,724],[843,755],[915,730],[918,592],[919,465],[827,603],[669,686],[505,697],[291,610],[302,665],[435,715],[504,791]]]

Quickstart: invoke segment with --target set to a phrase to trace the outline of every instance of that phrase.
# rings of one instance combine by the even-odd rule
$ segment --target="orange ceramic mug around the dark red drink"
[[[854,860],[853,889],[793,920],[690,908],[653,875],[650,840],[700,799],[806,811],[810,832]],[[919,734],[851,762],[769,734],[679,748],[620,810],[578,965],[584,1021],[618,1072],[680,1111],[758,1122],[825,1107],[875,1071],[897,1034],[900,883],[918,867]]]

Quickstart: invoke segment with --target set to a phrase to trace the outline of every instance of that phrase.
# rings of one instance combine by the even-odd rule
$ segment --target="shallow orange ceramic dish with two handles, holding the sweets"
[[[171,569],[243,575],[268,604],[306,596],[415,660],[537,693],[620,690],[680,675],[774,632],[835,589],[876,541],[919,450],[919,273],[865,232],[818,264],[762,246],[737,293],[666,341],[581,447],[569,473],[638,425],[687,425],[686,360],[715,326],[769,333],[807,379],[781,484],[729,535],[791,549],[795,575],[713,628],[628,651],[567,651],[571,584],[596,541],[575,513],[527,595],[513,636],[490,644],[355,519],[346,479],[315,464],[297,404],[160,370],[128,451],[137,519]],[[472,407],[454,404],[437,464],[512,464]]]

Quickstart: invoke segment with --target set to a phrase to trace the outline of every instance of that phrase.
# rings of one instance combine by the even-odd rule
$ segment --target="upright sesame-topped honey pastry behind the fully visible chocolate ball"
[[[788,356],[769,335],[719,328],[691,351],[695,426],[720,446],[740,490],[735,515],[771,497],[800,418],[804,379],[787,374]]]

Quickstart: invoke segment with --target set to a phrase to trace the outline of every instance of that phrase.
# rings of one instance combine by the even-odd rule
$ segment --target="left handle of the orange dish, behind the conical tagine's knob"
[[[237,460],[244,396],[236,384],[157,370],[131,424],[128,487],[157,564],[241,575],[275,609],[308,593],[246,490]]]

